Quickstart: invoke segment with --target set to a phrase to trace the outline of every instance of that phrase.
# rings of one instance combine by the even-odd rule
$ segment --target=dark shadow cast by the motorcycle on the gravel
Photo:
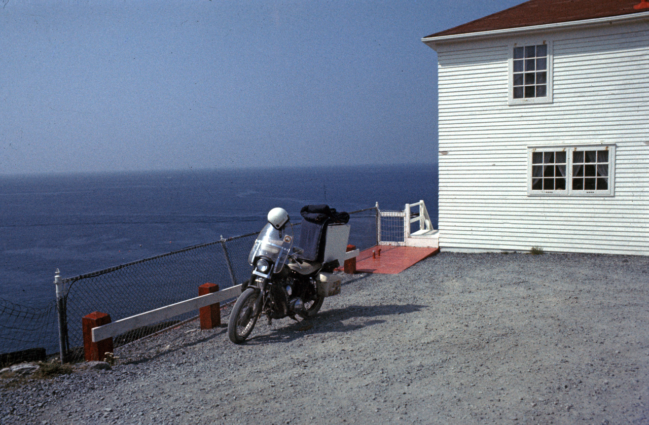
[[[253,336],[246,343],[251,345],[286,343],[302,338],[304,335],[325,334],[327,332],[352,332],[360,328],[386,322],[384,319],[367,319],[414,313],[426,307],[428,306],[385,304],[381,306],[334,308],[333,310],[322,311],[316,317],[313,317],[313,319],[305,319],[300,322],[286,322],[286,326],[273,329],[269,334]]]

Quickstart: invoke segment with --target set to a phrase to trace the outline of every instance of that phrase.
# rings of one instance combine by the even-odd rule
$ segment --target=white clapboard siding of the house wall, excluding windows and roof
[[[553,103],[508,104],[519,39],[448,43],[439,60],[439,246],[649,255],[649,29],[536,34]],[[615,143],[615,196],[528,196],[528,146]]]

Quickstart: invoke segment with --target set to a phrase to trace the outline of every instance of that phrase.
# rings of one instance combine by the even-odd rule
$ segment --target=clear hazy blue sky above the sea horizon
[[[437,160],[420,39],[522,3],[0,1],[0,174]]]

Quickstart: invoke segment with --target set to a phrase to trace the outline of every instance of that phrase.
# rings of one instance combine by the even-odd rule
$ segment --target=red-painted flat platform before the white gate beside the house
[[[438,252],[439,248],[377,245],[358,254],[356,257],[356,273],[397,274],[424,258],[434,256]]]

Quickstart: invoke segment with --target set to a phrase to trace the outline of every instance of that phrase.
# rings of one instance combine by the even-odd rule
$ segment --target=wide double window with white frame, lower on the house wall
[[[615,144],[528,147],[528,195],[612,196]]]

